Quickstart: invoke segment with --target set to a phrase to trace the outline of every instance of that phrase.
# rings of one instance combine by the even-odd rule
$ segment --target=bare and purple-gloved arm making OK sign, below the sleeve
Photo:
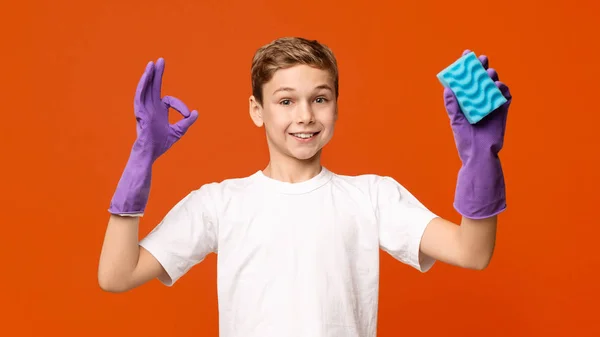
[[[161,98],[164,60],[149,62],[134,100],[137,138],[110,203],[111,213],[98,267],[98,283],[110,292],[123,292],[166,272],[156,258],[139,245],[139,219],[143,215],[152,176],[152,165],[177,142],[198,118],[183,102]],[[169,123],[169,108],[183,115]]]

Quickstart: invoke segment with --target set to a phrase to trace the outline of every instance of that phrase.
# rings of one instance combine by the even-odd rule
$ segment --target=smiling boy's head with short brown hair
[[[280,38],[252,62],[250,115],[265,126],[271,158],[318,158],[337,120],[338,68],[317,41]]]

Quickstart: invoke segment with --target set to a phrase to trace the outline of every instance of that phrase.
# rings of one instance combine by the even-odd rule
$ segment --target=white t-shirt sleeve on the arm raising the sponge
[[[425,228],[437,215],[393,178],[380,177],[376,191],[381,249],[421,272],[431,269],[435,260],[421,254],[420,246]]]

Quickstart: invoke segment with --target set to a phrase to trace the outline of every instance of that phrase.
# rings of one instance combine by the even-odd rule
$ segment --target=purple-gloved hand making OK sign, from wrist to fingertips
[[[190,113],[179,99],[165,96],[161,99],[162,77],[165,62],[160,58],[149,62],[142,75],[134,99],[137,120],[137,139],[134,144],[136,155],[153,163],[177,142],[198,118],[196,110]],[[169,108],[183,115],[183,119],[169,124]]]

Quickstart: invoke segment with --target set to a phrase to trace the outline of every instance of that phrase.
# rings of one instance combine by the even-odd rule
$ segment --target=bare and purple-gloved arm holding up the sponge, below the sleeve
[[[465,50],[463,55],[469,53]],[[462,166],[458,173],[454,208],[462,215],[460,225],[436,218],[425,229],[421,253],[452,265],[481,270],[487,267],[496,242],[499,213],[506,209],[504,175],[498,153],[504,144],[506,118],[512,96],[479,56],[487,73],[507,102],[476,124],[463,115],[454,93],[444,89],[444,105]]]

